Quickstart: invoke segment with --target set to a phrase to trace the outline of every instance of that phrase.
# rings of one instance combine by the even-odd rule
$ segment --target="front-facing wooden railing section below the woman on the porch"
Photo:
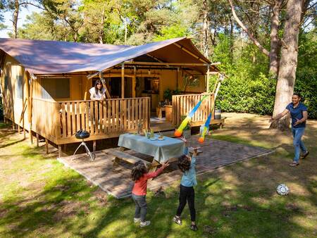
[[[150,98],[107,99],[105,101],[59,101],[61,139],[87,130],[91,137],[135,131],[142,123],[149,127]],[[106,138],[106,137],[105,137]]]

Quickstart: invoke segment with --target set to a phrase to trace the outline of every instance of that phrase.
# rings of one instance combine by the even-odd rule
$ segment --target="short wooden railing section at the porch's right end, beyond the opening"
[[[182,115],[188,115],[188,113],[192,110],[192,108],[194,108],[195,105],[198,104],[204,95],[206,94],[174,95],[172,98],[173,124],[179,125]],[[196,113],[194,113],[194,116],[192,117],[192,125],[200,125],[207,120],[214,104],[214,95],[207,95],[208,97],[202,101],[201,106],[198,108]],[[214,118],[213,114],[212,118]]]

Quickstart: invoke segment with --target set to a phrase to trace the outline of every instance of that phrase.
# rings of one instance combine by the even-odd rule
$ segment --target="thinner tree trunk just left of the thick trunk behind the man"
[[[280,20],[278,16],[280,15],[280,6],[282,0],[275,0],[272,14],[271,14],[271,50],[270,50],[270,70],[271,76],[275,79],[278,78],[278,52],[280,50],[280,41],[278,39],[278,26],[280,25]]]

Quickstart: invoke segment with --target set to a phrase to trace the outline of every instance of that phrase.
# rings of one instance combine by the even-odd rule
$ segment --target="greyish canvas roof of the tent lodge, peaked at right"
[[[0,39],[0,49],[20,62],[29,73],[35,75],[101,71],[149,53],[168,63],[202,63],[174,43],[211,63],[186,37],[140,46]],[[206,72],[206,67],[199,68],[200,71]]]

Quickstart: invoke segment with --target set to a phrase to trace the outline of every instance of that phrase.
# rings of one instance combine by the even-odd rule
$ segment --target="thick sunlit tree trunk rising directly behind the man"
[[[273,116],[284,111],[292,99],[297,68],[298,36],[303,0],[288,0],[286,21],[282,39],[280,69],[276,85]],[[285,130],[290,127],[290,116],[285,116],[271,124],[271,128]]]

